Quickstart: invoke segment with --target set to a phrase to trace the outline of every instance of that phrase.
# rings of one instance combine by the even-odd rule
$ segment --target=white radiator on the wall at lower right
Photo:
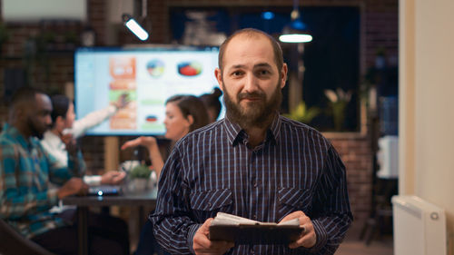
[[[446,255],[445,211],[416,196],[392,197],[394,255]]]

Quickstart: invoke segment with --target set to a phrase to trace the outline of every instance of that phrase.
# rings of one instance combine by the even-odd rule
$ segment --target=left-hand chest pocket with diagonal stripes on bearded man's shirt
[[[232,191],[229,189],[191,192],[192,212],[198,219],[216,216],[218,211],[232,211]]]

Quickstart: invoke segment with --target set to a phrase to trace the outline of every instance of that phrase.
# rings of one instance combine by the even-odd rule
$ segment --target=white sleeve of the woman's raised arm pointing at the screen
[[[73,134],[74,139],[84,135],[89,129],[103,123],[106,119],[110,118],[116,113],[117,108],[114,105],[109,105],[99,111],[88,113],[84,118],[77,120],[73,123],[73,128],[64,130]]]

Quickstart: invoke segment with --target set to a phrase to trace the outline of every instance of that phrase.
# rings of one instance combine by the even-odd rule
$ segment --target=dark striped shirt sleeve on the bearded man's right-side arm
[[[339,154],[330,145],[324,162],[320,185],[309,215],[317,235],[311,249],[316,254],[334,254],[353,219],[347,192],[345,166]]]

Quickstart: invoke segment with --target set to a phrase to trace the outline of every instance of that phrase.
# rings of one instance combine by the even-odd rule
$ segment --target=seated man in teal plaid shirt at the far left
[[[49,209],[58,200],[86,192],[77,176],[80,164],[68,158],[62,167],[44,151],[38,139],[52,123],[50,98],[33,88],[19,89],[0,133],[0,217],[25,238],[56,254],[77,252],[77,226]],[[60,188],[49,188],[54,182]],[[89,240],[90,254],[128,254],[121,242],[103,231]]]

